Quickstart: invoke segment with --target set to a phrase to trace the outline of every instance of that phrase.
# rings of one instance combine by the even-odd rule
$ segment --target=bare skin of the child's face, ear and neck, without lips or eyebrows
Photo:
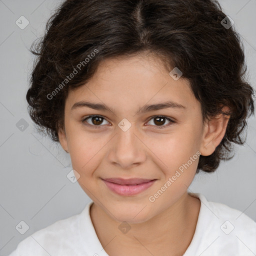
[[[228,118],[219,114],[203,122],[200,102],[182,76],[174,80],[157,57],[111,58],[100,63],[84,85],[70,90],[65,102],[64,127],[59,141],[69,152],[78,182],[94,201],[90,216],[104,250],[114,255],[182,255],[192,240],[200,201],[187,193],[199,157],[157,198],[149,201],[183,163],[197,151],[210,155],[225,134]],[[71,110],[78,101],[104,103],[112,109],[86,106]],[[174,101],[169,107],[136,114],[145,104]],[[227,107],[223,107],[227,110]],[[101,123],[88,115],[100,115]],[[157,116],[162,123],[155,120]],[[123,131],[118,123],[131,126]],[[168,125],[169,124],[169,125]],[[94,125],[94,126],[93,126]],[[159,128],[163,127],[163,128]],[[101,178],[157,179],[137,195],[110,191]],[[127,233],[118,228],[123,221]]]

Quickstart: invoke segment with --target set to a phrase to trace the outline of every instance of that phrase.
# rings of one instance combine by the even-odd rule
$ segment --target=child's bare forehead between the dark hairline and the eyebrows
[[[67,103],[71,107],[76,101],[92,100],[123,108],[167,100],[182,105],[198,103],[189,81],[182,76],[174,80],[169,71],[153,55],[109,58],[100,62],[84,85],[69,91]]]

